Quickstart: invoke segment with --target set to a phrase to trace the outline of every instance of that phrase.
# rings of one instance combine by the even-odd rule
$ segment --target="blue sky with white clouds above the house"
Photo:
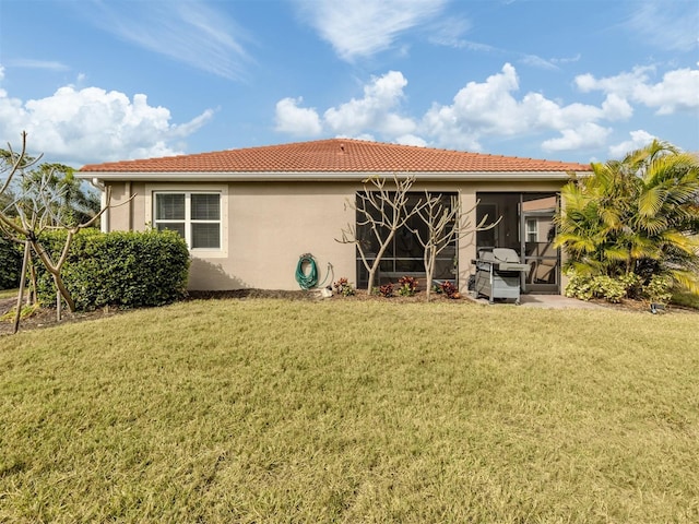
[[[332,136],[699,151],[697,0],[0,0],[0,140],[72,166]]]

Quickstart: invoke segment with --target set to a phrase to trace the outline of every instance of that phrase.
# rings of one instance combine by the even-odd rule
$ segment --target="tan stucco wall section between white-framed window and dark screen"
[[[354,212],[345,210],[345,199],[353,195],[352,186],[336,183],[230,186],[228,258],[196,260],[190,286],[298,289],[295,272],[305,253],[316,259],[321,283],[340,276],[356,282],[354,247],[335,241],[354,222]]]

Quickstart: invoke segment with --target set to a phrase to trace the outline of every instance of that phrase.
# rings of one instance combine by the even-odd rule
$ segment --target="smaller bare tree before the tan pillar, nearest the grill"
[[[425,205],[417,211],[417,215],[427,226],[427,230],[420,234],[419,229],[413,229],[417,240],[425,248],[423,261],[426,274],[425,293],[428,301],[439,253],[457,240],[476,231],[491,229],[500,222],[499,217],[488,224],[488,215],[485,215],[475,227],[472,227],[470,216],[478,202],[466,212],[463,212],[458,196],[452,196],[450,204],[446,205],[439,194],[425,191]]]

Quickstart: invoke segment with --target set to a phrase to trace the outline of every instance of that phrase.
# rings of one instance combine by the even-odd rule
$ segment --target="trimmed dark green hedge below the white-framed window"
[[[42,241],[56,260],[66,233],[44,235]],[[61,276],[78,310],[163,306],[185,297],[189,263],[187,243],[174,231],[83,230],[73,239]],[[43,264],[37,273],[39,301],[50,306],[56,302],[54,279]]]

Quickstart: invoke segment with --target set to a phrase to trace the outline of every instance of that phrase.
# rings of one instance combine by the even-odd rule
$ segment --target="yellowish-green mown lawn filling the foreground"
[[[699,317],[210,300],[0,337],[0,522],[699,522]]]

